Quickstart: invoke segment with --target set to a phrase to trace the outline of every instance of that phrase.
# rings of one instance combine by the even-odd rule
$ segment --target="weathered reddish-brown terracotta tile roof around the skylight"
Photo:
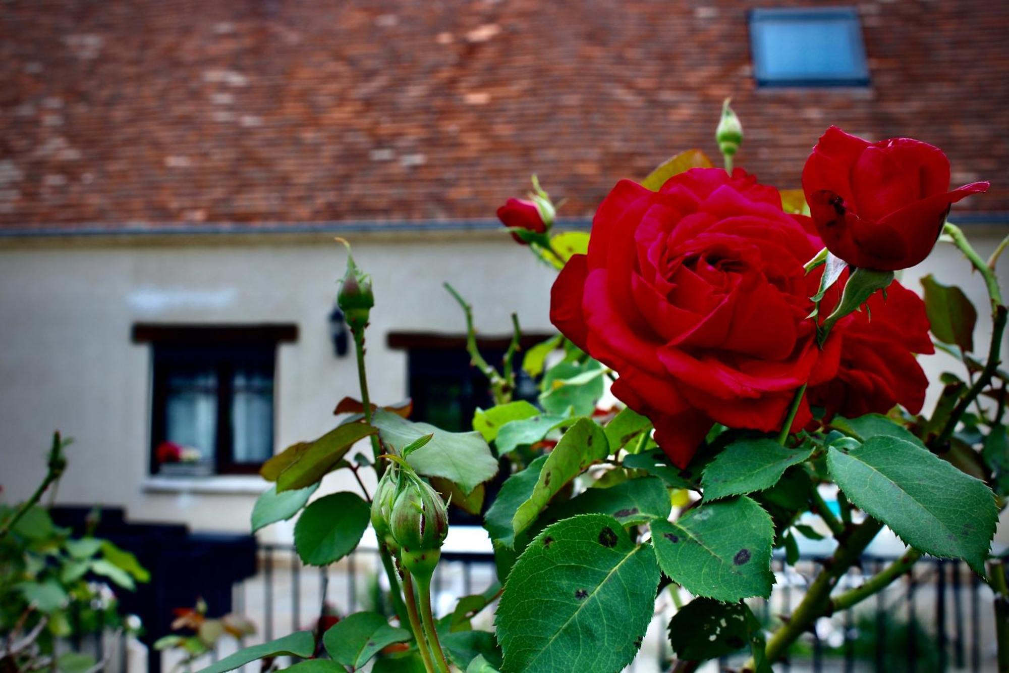
[[[1009,211],[1009,3],[866,1],[872,86],[758,90],[776,0],[10,0],[0,226],[492,217],[539,173],[569,216],[688,147],[797,186],[835,123],[944,149]],[[793,1],[789,6],[817,2]]]

